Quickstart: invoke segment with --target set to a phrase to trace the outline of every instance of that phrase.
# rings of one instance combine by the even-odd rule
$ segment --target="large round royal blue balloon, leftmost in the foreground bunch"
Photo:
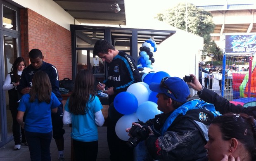
[[[114,99],[114,107],[120,114],[133,114],[137,111],[138,100],[131,92],[121,92]]]

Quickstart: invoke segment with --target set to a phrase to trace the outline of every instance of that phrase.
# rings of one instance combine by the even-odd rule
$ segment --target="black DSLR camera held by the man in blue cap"
[[[136,147],[140,141],[146,140],[149,136],[148,126],[144,123],[139,124],[142,125],[142,128],[138,125],[132,125],[132,128],[130,129],[129,134],[131,135],[131,137],[128,139],[127,144],[131,148]]]

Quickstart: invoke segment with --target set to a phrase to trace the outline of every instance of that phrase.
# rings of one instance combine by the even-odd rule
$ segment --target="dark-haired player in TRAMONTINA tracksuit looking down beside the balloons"
[[[128,147],[126,141],[119,139],[116,135],[116,122],[123,116],[114,108],[114,98],[120,92],[125,92],[129,85],[141,82],[140,72],[137,69],[134,59],[125,52],[116,50],[107,40],[98,40],[93,48],[96,54],[107,64],[108,76],[103,81],[99,90],[108,87],[109,111],[107,118],[107,140],[111,161],[132,161],[133,149]]]

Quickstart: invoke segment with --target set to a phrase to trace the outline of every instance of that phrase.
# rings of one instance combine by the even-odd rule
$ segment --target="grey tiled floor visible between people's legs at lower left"
[[[71,161],[71,127],[64,125],[64,157],[66,161]],[[98,127],[99,132],[99,150],[97,161],[110,161],[109,149],[107,145],[107,127]],[[29,161],[30,155],[27,146],[21,145],[20,150],[14,150],[14,142],[11,141],[0,148],[0,161]],[[55,140],[52,139],[50,145],[52,161],[58,161],[58,149],[55,144]]]

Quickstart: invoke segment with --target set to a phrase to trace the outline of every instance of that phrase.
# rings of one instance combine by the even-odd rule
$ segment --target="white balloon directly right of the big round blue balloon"
[[[142,104],[142,102],[149,100],[149,92],[147,88],[140,83],[131,84],[127,88],[126,92],[131,92],[133,95],[135,95],[138,100],[138,106]]]

